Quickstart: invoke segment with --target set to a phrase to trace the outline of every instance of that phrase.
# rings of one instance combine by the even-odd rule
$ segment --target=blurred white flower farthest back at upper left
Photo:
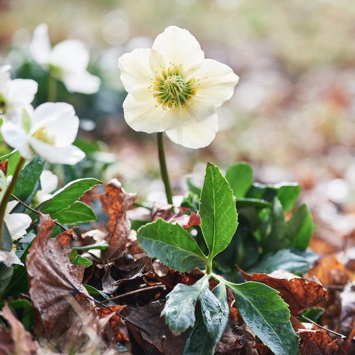
[[[48,26],[42,23],[34,29],[29,51],[35,61],[62,80],[69,92],[93,94],[98,91],[100,79],[86,70],[89,52],[82,42],[66,40],[51,49]]]

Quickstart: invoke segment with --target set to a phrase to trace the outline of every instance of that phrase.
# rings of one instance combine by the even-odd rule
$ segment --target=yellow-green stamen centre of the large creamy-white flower
[[[180,74],[177,65],[162,70],[161,75],[155,77],[153,85],[153,96],[163,109],[180,109],[184,105],[190,105],[192,98],[196,95],[198,88],[196,79],[191,78],[186,81]]]

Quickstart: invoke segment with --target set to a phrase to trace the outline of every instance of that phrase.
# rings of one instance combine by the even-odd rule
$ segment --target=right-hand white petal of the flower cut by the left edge
[[[17,104],[28,104],[37,93],[38,84],[31,79],[14,79],[9,84],[8,99]]]

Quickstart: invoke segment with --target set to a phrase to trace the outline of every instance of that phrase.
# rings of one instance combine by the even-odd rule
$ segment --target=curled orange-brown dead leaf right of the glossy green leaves
[[[283,270],[273,271],[271,274],[252,275],[240,269],[239,271],[246,281],[263,282],[279,291],[280,297],[290,306],[293,315],[299,315],[304,309],[328,299],[327,291],[316,277],[303,278]]]

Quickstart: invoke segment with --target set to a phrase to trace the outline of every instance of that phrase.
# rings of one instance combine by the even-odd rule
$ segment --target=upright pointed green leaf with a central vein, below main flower
[[[238,226],[238,214],[227,180],[219,168],[210,163],[201,191],[200,217],[211,260],[230,243]]]

